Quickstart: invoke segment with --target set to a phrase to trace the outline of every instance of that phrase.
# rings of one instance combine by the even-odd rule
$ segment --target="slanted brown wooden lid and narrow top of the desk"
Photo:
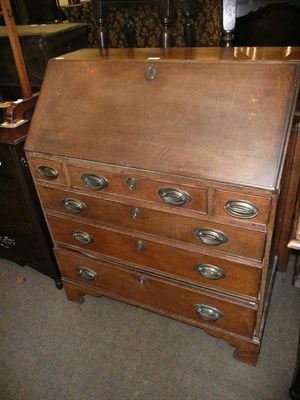
[[[274,190],[298,56],[285,48],[70,53],[48,63],[25,149]]]

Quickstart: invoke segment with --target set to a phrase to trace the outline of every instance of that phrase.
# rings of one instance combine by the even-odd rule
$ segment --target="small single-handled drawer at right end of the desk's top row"
[[[215,215],[218,217],[261,224],[267,224],[269,221],[270,198],[217,190],[215,203]]]

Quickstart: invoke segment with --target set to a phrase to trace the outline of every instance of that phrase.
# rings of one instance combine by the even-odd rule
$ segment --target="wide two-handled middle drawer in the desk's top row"
[[[114,173],[68,165],[68,172],[71,185],[76,189],[150,201],[173,209],[207,213],[207,189],[204,187],[149,179],[135,171],[132,174]]]

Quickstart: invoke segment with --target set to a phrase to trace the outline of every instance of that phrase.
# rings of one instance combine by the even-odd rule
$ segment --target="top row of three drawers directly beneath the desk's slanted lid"
[[[267,224],[271,209],[271,198],[239,191],[209,188],[207,183],[165,175],[164,179],[148,171],[117,168],[100,163],[85,163],[62,160],[30,160],[31,171],[37,181],[92,193],[109,194],[127,199],[147,201],[162,207],[210,214],[229,220],[240,220],[244,224]],[[67,175],[67,178],[66,178]]]

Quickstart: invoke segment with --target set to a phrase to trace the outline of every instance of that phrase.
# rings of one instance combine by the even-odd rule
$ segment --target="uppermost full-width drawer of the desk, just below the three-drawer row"
[[[198,218],[73,194],[59,189],[40,187],[39,192],[46,210],[185,242],[199,248],[213,249],[214,252],[220,251],[254,260],[261,260],[263,257],[264,232],[201,221]],[[76,207],[75,212],[69,211],[65,207],[69,199],[75,200],[82,206]]]

